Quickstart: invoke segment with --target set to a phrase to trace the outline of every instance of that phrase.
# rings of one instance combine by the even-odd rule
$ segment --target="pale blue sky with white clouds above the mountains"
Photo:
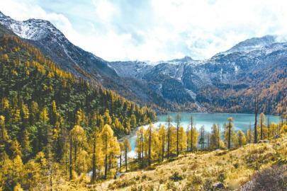
[[[0,0],[18,21],[50,21],[108,61],[208,59],[242,40],[287,36],[286,0]]]

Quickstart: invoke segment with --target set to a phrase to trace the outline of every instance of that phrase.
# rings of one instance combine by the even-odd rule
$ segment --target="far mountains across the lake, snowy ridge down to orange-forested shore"
[[[198,108],[218,112],[252,112],[249,100],[253,99],[252,90],[257,88],[261,110],[282,113],[286,112],[286,60],[287,43],[276,42],[276,37],[269,35],[245,40],[203,61],[184,58],[155,65],[145,62],[110,65],[119,76],[145,81],[152,90],[177,103],[189,101]],[[274,98],[267,93],[272,91],[276,94]]]

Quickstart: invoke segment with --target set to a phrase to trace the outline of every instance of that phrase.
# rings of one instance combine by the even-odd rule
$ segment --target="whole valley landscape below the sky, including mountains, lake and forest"
[[[0,191],[281,191],[286,146],[277,35],[201,60],[108,61],[0,12]]]

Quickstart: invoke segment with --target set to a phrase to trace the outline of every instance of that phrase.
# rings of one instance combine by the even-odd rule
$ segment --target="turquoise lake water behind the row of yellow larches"
[[[169,115],[172,117],[173,124],[175,125],[176,112],[171,112]],[[193,116],[193,124],[195,124],[196,129],[199,129],[204,125],[206,131],[210,132],[210,129],[213,124],[220,125],[220,128],[223,127],[224,123],[227,123],[228,117],[233,117],[233,124],[235,130],[242,129],[244,132],[251,127],[254,127],[254,114],[244,114],[244,113],[206,113],[206,112],[181,112],[181,126],[187,129],[190,125],[190,117]],[[266,119],[269,117],[269,122],[278,123],[280,120],[279,116],[266,115]],[[167,115],[157,115],[157,122],[154,123],[154,127],[159,127],[159,125],[166,125]],[[147,127],[147,126],[146,126]],[[130,151],[129,156],[135,157],[135,131],[130,134],[130,145],[132,151]]]

